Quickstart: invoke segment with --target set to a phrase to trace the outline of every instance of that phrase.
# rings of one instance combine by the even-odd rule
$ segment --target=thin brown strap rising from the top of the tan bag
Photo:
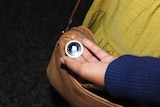
[[[74,15],[75,15],[75,13],[76,13],[76,10],[77,10],[77,8],[78,8],[78,6],[79,6],[79,4],[80,4],[80,1],[81,1],[81,0],[77,0],[75,6],[74,6],[74,8],[73,8],[73,11],[72,11],[72,13],[71,13],[71,15],[70,15],[70,18],[69,18],[69,20],[68,20],[68,23],[67,23],[67,26],[66,26],[66,28],[65,28],[65,31],[62,31],[62,33],[64,33],[64,32],[66,32],[66,31],[69,30],[70,24],[72,23],[72,19],[73,19]]]

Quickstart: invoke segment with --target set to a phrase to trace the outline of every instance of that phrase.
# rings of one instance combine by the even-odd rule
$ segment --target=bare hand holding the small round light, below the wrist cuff
[[[83,39],[84,52],[78,58],[63,56],[61,62],[81,78],[104,86],[104,76],[108,65],[116,58],[88,39]]]

